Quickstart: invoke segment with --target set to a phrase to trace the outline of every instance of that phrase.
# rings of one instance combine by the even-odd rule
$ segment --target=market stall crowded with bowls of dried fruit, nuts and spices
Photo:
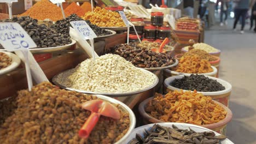
[[[220,51],[199,43],[199,19],[175,9],[139,17],[142,5],[63,6],[42,0],[0,23],[26,40],[19,23],[35,45],[14,49],[0,32],[0,143],[232,143],[232,86],[215,78]]]

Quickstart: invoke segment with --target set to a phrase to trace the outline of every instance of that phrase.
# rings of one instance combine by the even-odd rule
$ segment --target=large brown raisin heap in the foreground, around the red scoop
[[[92,99],[97,98],[65,91],[49,82],[34,86],[31,92],[19,91],[18,108],[0,126],[0,143],[117,142],[130,127],[129,113],[119,106],[120,120],[101,116],[88,139],[78,136],[91,113],[82,109],[82,103]]]

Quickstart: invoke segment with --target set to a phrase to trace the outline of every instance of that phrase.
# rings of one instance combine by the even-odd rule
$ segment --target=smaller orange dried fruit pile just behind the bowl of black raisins
[[[201,59],[199,56],[182,57],[179,60],[178,66],[173,70],[179,73],[189,74],[202,74],[213,71],[211,64],[205,59]]]

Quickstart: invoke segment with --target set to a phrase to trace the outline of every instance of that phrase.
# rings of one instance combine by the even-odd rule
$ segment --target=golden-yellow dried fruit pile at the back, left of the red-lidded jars
[[[100,7],[96,7],[94,12],[88,11],[82,18],[99,27],[125,27],[119,13],[101,9]]]

